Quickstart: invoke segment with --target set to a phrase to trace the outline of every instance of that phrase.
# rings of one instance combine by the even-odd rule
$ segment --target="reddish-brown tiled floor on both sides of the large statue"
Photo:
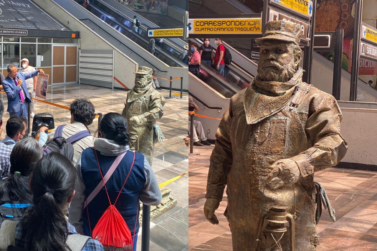
[[[226,194],[216,215],[219,225],[204,217],[203,205],[209,157],[213,146],[194,147],[189,160],[189,250],[231,251],[231,233],[223,215]],[[333,222],[326,210],[317,225],[317,251],[377,251],[377,172],[328,168],[316,172],[336,210]]]

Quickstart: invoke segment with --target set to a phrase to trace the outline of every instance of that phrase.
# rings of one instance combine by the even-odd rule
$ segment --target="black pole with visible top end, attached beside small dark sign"
[[[342,80],[343,36],[344,30],[336,29],[333,71],[333,96],[336,100],[340,100],[340,81]]]

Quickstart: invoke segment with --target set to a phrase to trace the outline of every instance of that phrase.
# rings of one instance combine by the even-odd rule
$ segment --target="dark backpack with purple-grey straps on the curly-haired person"
[[[65,139],[62,136],[64,126],[65,125],[58,126],[54,135],[55,137],[44,144],[44,146],[42,147],[43,156],[49,154],[50,152],[59,152],[60,154],[63,154],[65,157],[67,157],[70,161],[73,161],[74,148],[72,146],[72,143],[92,135],[88,131],[81,131]]]

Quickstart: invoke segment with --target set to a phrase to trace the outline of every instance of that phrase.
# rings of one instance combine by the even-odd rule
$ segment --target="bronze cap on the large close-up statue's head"
[[[300,44],[301,26],[287,20],[268,21],[265,25],[263,37],[256,38],[257,43],[263,40],[281,40]]]

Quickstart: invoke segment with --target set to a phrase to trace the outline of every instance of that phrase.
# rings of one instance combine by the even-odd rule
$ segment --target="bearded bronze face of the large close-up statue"
[[[294,55],[294,43],[264,40],[258,62],[258,77],[262,81],[287,82],[299,63],[300,56]]]

